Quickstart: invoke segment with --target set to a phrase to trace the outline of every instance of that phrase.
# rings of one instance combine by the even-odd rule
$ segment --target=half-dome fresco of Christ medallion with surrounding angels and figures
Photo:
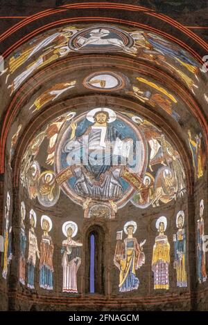
[[[43,141],[48,168],[37,159]],[[47,124],[24,153],[20,180],[31,200],[53,206],[62,192],[86,218],[112,219],[128,201],[146,209],[186,193],[182,160],[167,136],[139,115],[110,107]]]

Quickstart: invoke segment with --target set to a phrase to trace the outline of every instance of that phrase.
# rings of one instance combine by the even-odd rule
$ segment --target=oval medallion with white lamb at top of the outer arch
[[[79,52],[128,51],[134,44],[128,32],[112,26],[85,28],[69,39],[69,48]]]

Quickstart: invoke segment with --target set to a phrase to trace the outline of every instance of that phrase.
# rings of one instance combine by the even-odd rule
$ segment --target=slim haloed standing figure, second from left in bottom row
[[[26,216],[25,204],[21,202],[21,229],[19,232],[19,243],[20,243],[20,257],[19,257],[19,282],[25,285],[25,267],[26,267],[26,232],[24,219]]]

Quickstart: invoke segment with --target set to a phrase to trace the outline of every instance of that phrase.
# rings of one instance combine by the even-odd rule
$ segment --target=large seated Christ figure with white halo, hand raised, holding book
[[[121,165],[128,165],[133,139],[122,128],[110,125],[116,120],[111,109],[93,109],[87,113],[87,120],[91,123],[84,120],[77,126],[71,122],[71,137],[63,147],[67,165],[73,165],[76,176],[73,188],[84,197],[120,198]]]

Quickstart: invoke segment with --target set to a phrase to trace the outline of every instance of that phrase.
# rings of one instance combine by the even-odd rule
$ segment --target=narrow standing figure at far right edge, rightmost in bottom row
[[[200,201],[200,219],[197,221],[197,255],[198,255],[198,281],[201,284],[207,280],[205,259],[205,221],[203,218],[204,200]]]

